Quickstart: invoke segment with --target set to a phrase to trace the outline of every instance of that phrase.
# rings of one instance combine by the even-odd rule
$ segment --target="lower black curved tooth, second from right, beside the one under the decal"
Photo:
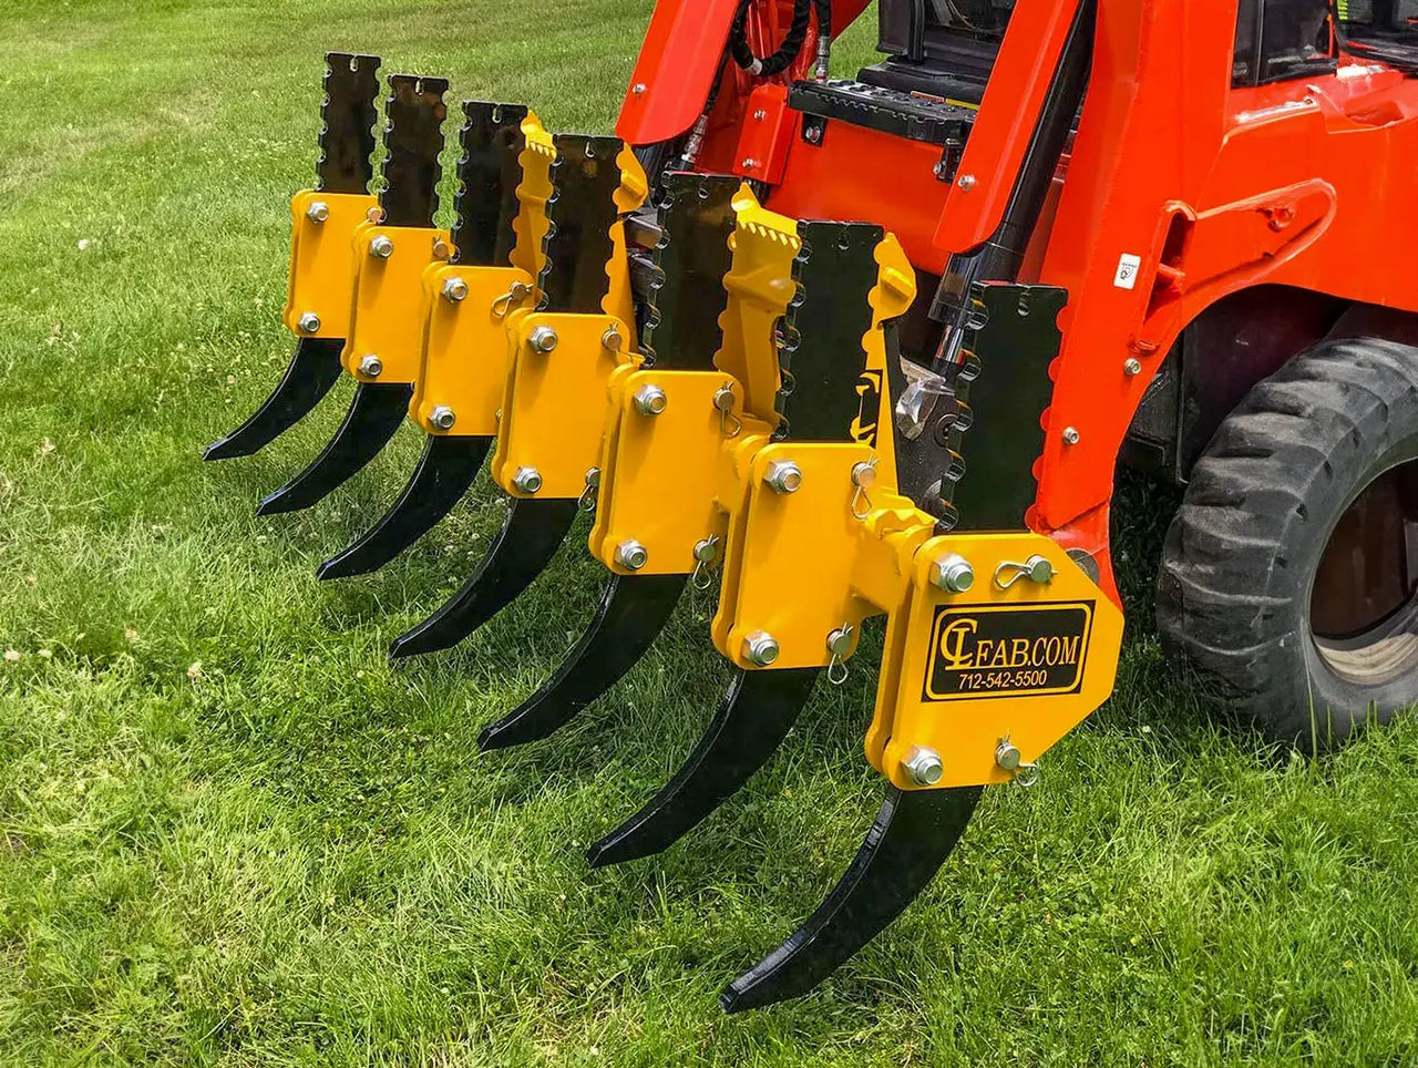
[[[807,705],[818,668],[739,671],[699,745],[664,789],[586,854],[593,868],[661,852],[763,767]]]

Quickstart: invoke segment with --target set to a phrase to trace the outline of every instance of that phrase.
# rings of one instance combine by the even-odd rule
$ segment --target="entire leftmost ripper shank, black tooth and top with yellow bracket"
[[[340,377],[353,282],[350,241],[377,201],[374,176],[379,57],[325,57],[320,157],[315,189],[291,201],[291,279],[285,325],[299,339],[281,384],[245,423],[214,441],[204,460],[250,457],[294,427]]]

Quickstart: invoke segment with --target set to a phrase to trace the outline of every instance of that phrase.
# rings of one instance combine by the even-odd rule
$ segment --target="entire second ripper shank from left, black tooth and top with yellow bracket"
[[[354,230],[350,333],[340,353],[354,399],[329,444],[262,498],[258,515],[309,508],[359,474],[398,430],[414,393],[421,274],[451,251],[448,234],[434,230],[448,82],[396,74],[389,84],[384,187],[377,216]]]

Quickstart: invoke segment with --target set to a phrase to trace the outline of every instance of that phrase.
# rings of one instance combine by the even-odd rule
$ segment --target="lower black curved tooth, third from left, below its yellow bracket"
[[[316,577],[369,574],[413,546],[462,501],[491,445],[489,437],[430,434],[394,505],[345,552],[322,563]]]

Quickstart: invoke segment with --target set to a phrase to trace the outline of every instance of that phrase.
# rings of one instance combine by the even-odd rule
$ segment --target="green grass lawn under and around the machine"
[[[475,562],[492,492],[319,586],[414,435],[274,521],[255,498],[343,393],[261,457],[199,462],[289,352],[285,201],[322,51],[605,129],[648,9],[0,6],[0,1062],[1418,1064],[1418,725],[1320,762],[1211,726],[1147,623],[1166,516],[1140,494],[1117,696],[1037,789],[993,791],[832,981],[725,1018],[718,989],[875,811],[872,672],[688,841],[587,872],[713,706],[712,604],[571,729],[479,757],[591,607],[580,539],[464,648],[394,671],[387,640]]]

